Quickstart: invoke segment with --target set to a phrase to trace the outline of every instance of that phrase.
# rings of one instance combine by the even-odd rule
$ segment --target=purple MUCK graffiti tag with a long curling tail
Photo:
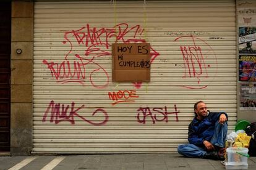
[[[67,111],[69,110],[69,105],[67,105],[67,106],[65,106],[64,104],[61,105],[60,103],[54,103],[54,101],[51,100],[51,102],[48,105],[48,108],[45,111],[45,115],[43,115],[42,121],[45,122],[46,118],[48,116],[48,113],[51,112],[51,118],[50,118],[49,121],[51,123],[54,122],[55,124],[58,124],[61,121],[69,121],[71,124],[75,124],[74,116],[77,116],[80,119],[82,119],[83,121],[85,121],[89,124],[95,125],[95,126],[103,125],[103,124],[106,124],[108,122],[108,113],[103,108],[97,108],[92,113],[92,116],[95,116],[99,112],[103,113],[104,120],[101,121],[100,123],[95,123],[93,121],[90,121],[90,120],[84,118],[83,116],[80,116],[77,113],[77,111],[84,108],[84,106],[85,105],[82,105],[79,108],[75,109],[75,103],[72,102],[71,103],[71,108],[70,108],[70,111],[69,111],[69,115],[67,115]]]

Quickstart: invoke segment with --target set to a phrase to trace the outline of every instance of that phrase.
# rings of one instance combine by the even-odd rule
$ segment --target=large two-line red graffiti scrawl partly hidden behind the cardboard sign
[[[141,39],[143,31],[140,25],[129,28],[127,23],[100,29],[87,24],[78,30],[65,32],[62,44],[68,44],[69,51],[65,54],[64,61],[58,63],[43,60],[43,63],[48,65],[51,76],[58,83],[77,82],[84,85],[85,79],[89,78],[93,87],[102,89],[108,86],[109,76],[105,68],[98,63],[98,58],[111,55],[110,42],[145,42],[145,39]],[[159,53],[150,47],[150,55],[150,62],[153,63]],[[101,78],[100,83],[97,81],[98,76]],[[140,88],[142,83],[134,86]]]

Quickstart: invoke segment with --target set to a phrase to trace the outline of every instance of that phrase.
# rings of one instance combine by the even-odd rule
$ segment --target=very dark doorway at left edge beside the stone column
[[[11,1],[0,6],[0,152],[10,151]]]

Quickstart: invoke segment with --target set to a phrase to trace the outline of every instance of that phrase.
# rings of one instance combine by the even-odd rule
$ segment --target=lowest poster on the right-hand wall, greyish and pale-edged
[[[256,110],[256,83],[240,84],[240,110]]]

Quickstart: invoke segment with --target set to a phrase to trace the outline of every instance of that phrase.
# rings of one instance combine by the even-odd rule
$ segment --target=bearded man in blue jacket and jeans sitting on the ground
[[[177,151],[190,158],[224,160],[228,115],[207,110],[204,102],[194,105],[195,118],[189,124],[189,144],[179,145]]]

